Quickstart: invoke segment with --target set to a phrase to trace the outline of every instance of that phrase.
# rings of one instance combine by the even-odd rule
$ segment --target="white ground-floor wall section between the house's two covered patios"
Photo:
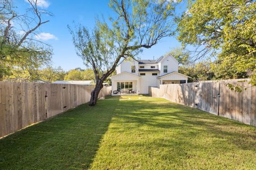
[[[140,75],[141,77],[141,92],[140,94],[148,94],[148,87],[158,87],[157,83],[157,76],[158,75],[152,75],[152,73],[156,72],[140,72],[140,73],[146,73],[146,75]]]

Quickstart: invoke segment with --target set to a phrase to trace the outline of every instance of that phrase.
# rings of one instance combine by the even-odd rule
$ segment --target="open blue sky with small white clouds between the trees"
[[[105,19],[113,15],[113,11],[109,8],[109,0],[38,0],[41,6],[47,11],[53,13],[54,16],[49,18],[50,22],[44,24],[39,30],[37,38],[48,43],[53,48],[53,66],[61,66],[68,71],[81,67],[85,69],[85,65],[81,58],[76,55],[75,48],[72,43],[72,37],[67,29],[67,25],[82,23],[87,28],[94,27],[94,19],[103,15]],[[14,1],[19,11],[23,11],[28,7],[26,0]],[[179,13],[184,9],[185,4],[177,7]],[[175,37],[164,38],[157,45],[150,49],[143,49],[139,54],[141,59],[158,58],[169,52],[172,48],[180,46]]]

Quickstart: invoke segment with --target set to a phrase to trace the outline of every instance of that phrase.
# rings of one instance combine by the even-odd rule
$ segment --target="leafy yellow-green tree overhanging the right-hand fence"
[[[219,78],[256,84],[255,0],[189,0],[178,30],[183,45],[198,47],[196,59],[217,56]]]

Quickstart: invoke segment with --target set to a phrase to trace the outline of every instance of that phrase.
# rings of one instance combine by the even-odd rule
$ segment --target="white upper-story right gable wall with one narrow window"
[[[175,60],[172,56],[166,56],[162,61],[161,64],[159,63],[159,70],[160,70],[160,75],[164,75],[167,73],[164,73],[164,65],[167,65],[167,73],[171,73],[173,71],[177,71],[178,72],[178,67],[179,67],[179,63],[177,62],[177,60]]]

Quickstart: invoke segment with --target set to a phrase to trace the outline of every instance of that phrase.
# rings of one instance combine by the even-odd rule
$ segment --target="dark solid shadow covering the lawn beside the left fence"
[[[87,169],[119,100],[99,100],[0,140],[0,169]]]

